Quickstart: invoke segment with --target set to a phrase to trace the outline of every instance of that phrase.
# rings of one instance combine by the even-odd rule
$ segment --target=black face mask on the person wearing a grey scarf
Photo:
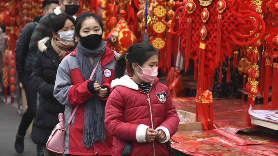
[[[102,34],[91,34],[85,37],[79,37],[81,44],[87,49],[96,49],[102,41]]]

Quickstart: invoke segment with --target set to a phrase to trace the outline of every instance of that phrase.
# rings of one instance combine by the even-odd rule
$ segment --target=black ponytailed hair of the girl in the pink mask
[[[127,51],[128,53],[120,56],[115,64],[115,78],[124,76],[127,64],[131,72],[134,73],[132,68],[133,63],[138,63],[139,66],[142,66],[153,55],[157,55],[158,59],[160,58],[156,48],[149,43],[133,44],[128,48]]]

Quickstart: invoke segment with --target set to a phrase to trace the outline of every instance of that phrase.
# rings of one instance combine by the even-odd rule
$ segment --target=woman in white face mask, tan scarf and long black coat
[[[49,36],[52,38],[44,38],[38,43],[39,52],[36,55],[30,77],[34,88],[42,96],[33,122],[32,140],[43,147],[58,123],[58,114],[65,110],[65,106],[54,98],[53,91],[61,57],[67,51],[75,49],[73,42],[74,18],[66,14],[57,15],[52,20]],[[44,148],[44,155],[58,156],[61,154]]]

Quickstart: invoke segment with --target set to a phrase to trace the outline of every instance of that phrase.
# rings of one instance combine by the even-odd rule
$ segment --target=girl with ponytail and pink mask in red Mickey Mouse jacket
[[[151,44],[139,43],[116,62],[105,107],[105,127],[115,137],[112,155],[172,155],[169,139],[180,119],[169,89],[156,77],[158,61]],[[126,64],[132,78],[124,76]]]

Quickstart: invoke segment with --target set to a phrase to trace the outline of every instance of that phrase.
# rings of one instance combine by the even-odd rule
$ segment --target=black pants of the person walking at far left
[[[37,92],[30,81],[29,75],[20,75],[20,82],[23,84],[27,99],[27,110],[21,118],[20,125],[18,127],[18,135],[25,136],[26,130],[31,124],[32,120],[36,116],[37,111]]]

